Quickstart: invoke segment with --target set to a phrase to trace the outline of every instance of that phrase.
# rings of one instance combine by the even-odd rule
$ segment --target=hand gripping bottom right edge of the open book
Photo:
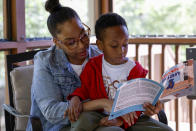
[[[158,114],[159,111],[163,109],[163,104],[160,101],[158,101],[155,106],[153,106],[151,103],[144,103],[143,107],[146,110],[144,111],[144,114],[152,116]]]

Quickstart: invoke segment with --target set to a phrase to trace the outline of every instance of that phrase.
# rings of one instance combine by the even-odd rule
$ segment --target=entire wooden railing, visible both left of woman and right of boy
[[[38,41],[38,42],[29,42],[28,44],[26,42],[0,42],[0,50],[11,50],[14,48],[19,48],[19,46],[25,46],[25,49],[31,49],[31,48],[41,48],[41,47],[47,47],[52,44],[52,41],[50,40],[44,40],[44,41]],[[165,50],[167,45],[173,45],[175,46],[175,64],[179,62],[179,47],[182,45],[188,45],[190,47],[196,45],[196,38],[152,38],[152,37],[145,37],[145,38],[130,38],[129,44],[135,45],[135,60],[139,60],[139,47],[141,45],[148,45],[148,69],[149,69],[149,75],[148,77],[152,78],[152,47],[153,45],[161,45],[161,74],[165,71]],[[161,75],[160,75],[161,77]],[[188,106],[189,106],[189,124],[190,124],[190,131],[193,131],[193,100],[188,100]],[[176,131],[179,131],[179,100],[174,101],[174,110],[175,110],[175,121],[176,121]],[[173,109],[173,108],[172,108]],[[170,110],[171,111],[171,110]],[[194,109],[196,112],[196,109]]]

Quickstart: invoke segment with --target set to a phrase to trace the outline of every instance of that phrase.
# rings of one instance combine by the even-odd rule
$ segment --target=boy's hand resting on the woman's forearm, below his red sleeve
[[[80,112],[82,112],[82,103],[78,96],[71,98],[69,108],[64,115],[68,115],[69,120],[74,122],[78,119]]]

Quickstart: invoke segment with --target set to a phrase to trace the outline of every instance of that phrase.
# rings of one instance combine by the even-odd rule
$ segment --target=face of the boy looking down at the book
[[[113,26],[103,31],[102,40],[97,40],[97,45],[103,51],[107,62],[120,65],[127,61],[128,39],[126,26]]]

